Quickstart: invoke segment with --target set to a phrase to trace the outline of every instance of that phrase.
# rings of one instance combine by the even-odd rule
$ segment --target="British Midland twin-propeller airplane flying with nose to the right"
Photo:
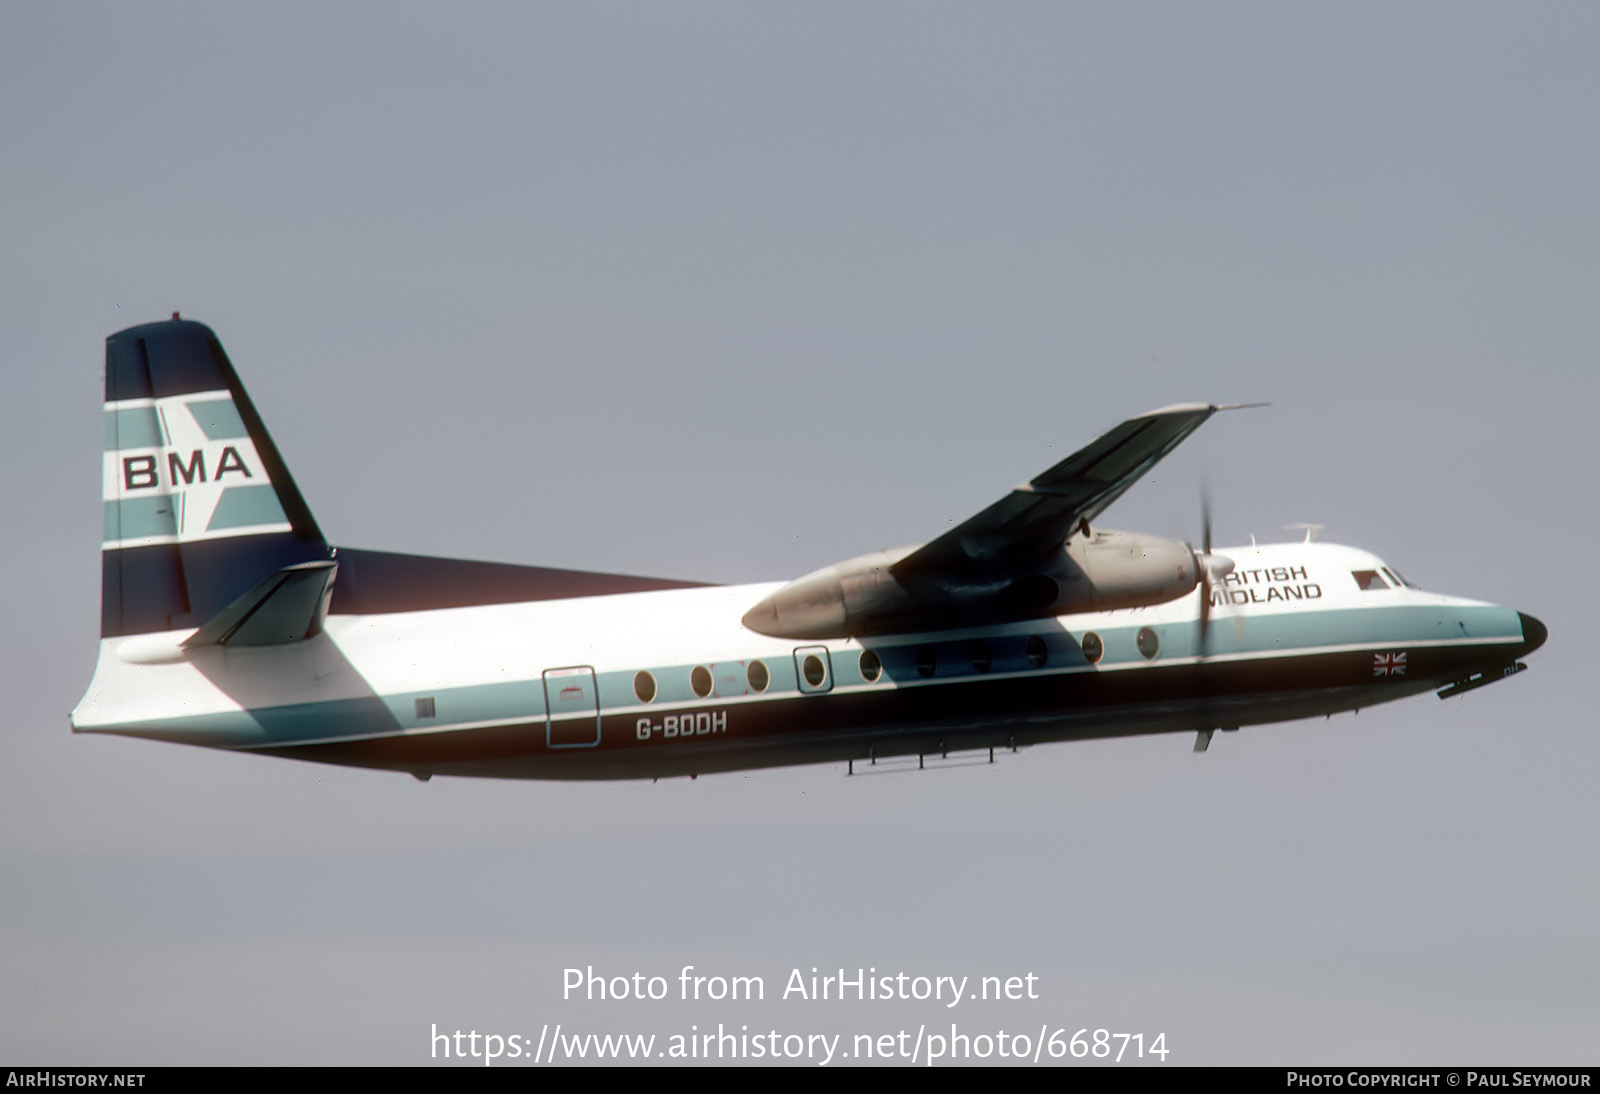
[[[216,334],[106,341],[77,733],[442,776],[638,779],[1213,733],[1459,696],[1547,637],[1315,542],[1101,513],[1213,414],[1114,427],[926,544],[712,585],[336,547]]]

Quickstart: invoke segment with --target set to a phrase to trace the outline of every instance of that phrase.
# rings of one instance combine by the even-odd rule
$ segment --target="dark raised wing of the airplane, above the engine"
[[[1186,403],[1130,417],[1109,433],[1035,477],[891,571],[899,579],[978,577],[1022,568],[1067,542],[1094,520],[1205,419],[1224,406]]]

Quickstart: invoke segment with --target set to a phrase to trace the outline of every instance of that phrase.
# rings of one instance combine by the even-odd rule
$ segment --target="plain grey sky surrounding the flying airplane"
[[[1584,3],[5,5],[0,1059],[954,1020],[1594,1064],[1597,32]],[[1128,414],[1270,400],[1107,521],[1197,536],[1206,480],[1222,544],[1320,521],[1550,643],[1205,757],[920,776],[424,785],[74,739],[102,339],[173,309],[347,545],[779,579]],[[560,998],[568,966],[683,964],[768,998]],[[813,966],[1040,998],[778,998]]]

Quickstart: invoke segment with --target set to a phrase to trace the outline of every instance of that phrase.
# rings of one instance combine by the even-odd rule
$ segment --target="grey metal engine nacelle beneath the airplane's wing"
[[[853,638],[1141,608],[1192,592],[1203,561],[1176,539],[1093,531],[1037,568],[901,581],[893,566],[914,550],[861,555],[806,574],[755,605],[744,625],[774,638]]]

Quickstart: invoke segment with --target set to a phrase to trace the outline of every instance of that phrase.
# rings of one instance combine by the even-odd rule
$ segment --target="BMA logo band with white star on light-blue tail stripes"
[[[102,549],[290,531],[226,390],[106,405]]]

